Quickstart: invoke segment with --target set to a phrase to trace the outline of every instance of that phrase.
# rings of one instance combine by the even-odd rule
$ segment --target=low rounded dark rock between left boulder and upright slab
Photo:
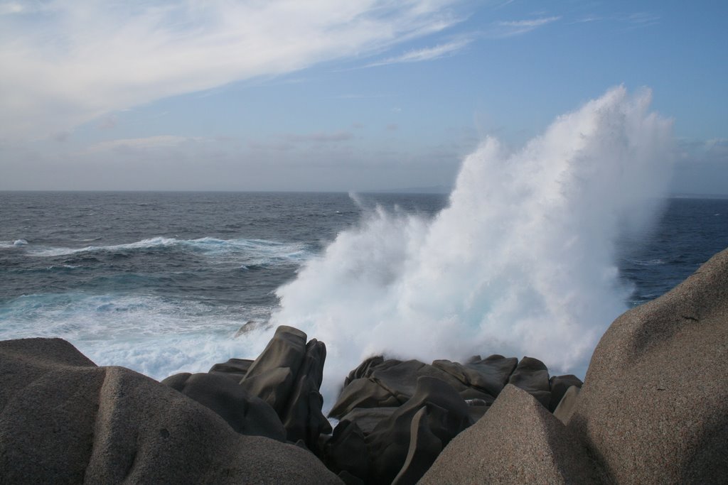
[[[223,375],[175,374],[162,384],[211,409],[237,433],[285,442],[286,430],[274,409]]]

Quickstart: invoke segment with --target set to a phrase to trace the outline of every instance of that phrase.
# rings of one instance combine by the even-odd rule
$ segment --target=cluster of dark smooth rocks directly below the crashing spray
[[[544,406],[563,396],[564,386],[581,385],[574,376],[550,380],[546,366],[531,357],[474,356],[466,364],[432,365],[368,358],[349,372],[329,413],[341,421],[323,460],[347,483],[414,484],[509,382],[537,398],[547,414]]]

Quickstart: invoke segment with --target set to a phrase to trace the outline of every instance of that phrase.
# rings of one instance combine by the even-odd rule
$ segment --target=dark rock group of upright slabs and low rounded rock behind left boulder
[[[292,326],[279,326],[255,360],[231,358],[207,374],[175,374],[162,382],[207,406],[234,430],[301,441],[318,452],[331,425],[321,412],[326,346]],[[282,434],[281,434],[282,430]]]

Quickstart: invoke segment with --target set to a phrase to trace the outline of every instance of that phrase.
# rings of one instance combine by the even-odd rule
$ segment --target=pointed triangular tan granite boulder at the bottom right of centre
[[[419,484],[589,484],[598,481],[569,430],[525,390],[507,385],[446,446]]]

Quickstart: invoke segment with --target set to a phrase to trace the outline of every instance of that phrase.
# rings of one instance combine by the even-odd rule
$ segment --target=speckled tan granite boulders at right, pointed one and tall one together
[[[580,390],[553,378],[553,416],[507,386],[420,483],[725,483],[726,356],[728,249],[617,318]]]

